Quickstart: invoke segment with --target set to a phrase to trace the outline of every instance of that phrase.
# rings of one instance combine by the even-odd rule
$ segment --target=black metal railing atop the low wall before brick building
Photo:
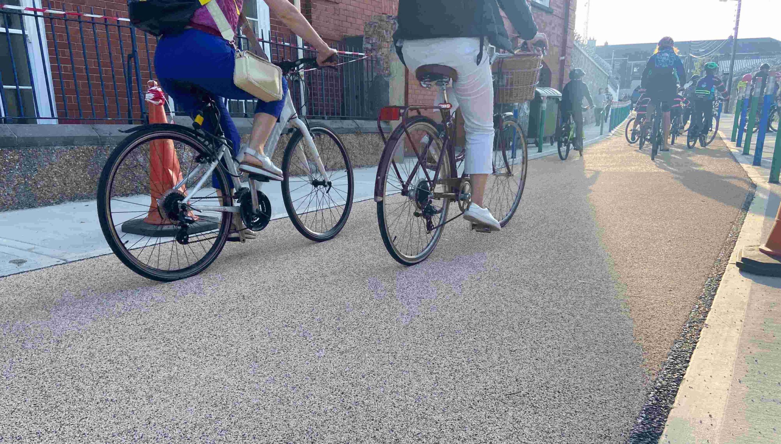
[[[45,8],[0,8],[0,123],[144,123],[157,38],[104,17],[105,10],[62,2],[45,2]],[[261,35],[273,61],[315,54],[294,35]],[[291,98],[309,118],[373,119],[373,59],[343,55],[341,62],[348,63],[305,73],[303,87],[291,85]],[[255,108],[248,101],[228,105],[234,116],[251,116]]]

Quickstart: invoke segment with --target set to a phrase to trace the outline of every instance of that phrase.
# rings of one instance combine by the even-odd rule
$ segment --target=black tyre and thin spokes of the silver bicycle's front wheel
[[[318,198],[311,198],[307,200],[306,195],[303,197],[298,197],[294,199],[293,193],[299,192],[302,188],[304,188],[304,191],[301,191],[298,194],[305,194],[306,184],[307,181],[301,180],[301,183],[294,183],[293,190],[291,191],[291,168],[295,167],[303,167],[304,165],[301,164],[301,161],[294,162],[295,160],[298,160],[298,158],[295,158],[295,149],[298,147],[298,144],[300,144],[304,139],[304,133],[301,133],[301,130],[298,130],[298,128],[294,131],[293,135],[291,136],[291,139],[287,142],[287,147],[285,147],[284,156],[282,158],[282,172],[283,172],[283,181],[281,183],[282,187],[282,201],[285,204],[285,209],[287,210],[287,215],[290,217],[291,222],[293,223],[293,226],[295,229],[298,230],[298,233],[301,233],[302,236],[306,237],[308,240],[313,240],[315,242],[323,242],[326,240],[331,240],[337,234],[341,232],[341,230],[344,228],[344,224],[347,223],[348,218],[350,217],[350,211],[352,210],[352,199],[353,195],[355,193],[355,177],[353,175],[352,170],[352,164],[350,162],[350,156],[348,155],[347,149],[344,147],[344,143],[341,141],[339,136],[337,136],[336,133],[334,133],[329,128],[323,127],[323,126],[312,126],[309,128],[309,133],[312,135],[312,140],[317,140],[319,137],[327,137],[330,141],[332,141],[339,149],[339,153],[341,155],[341,159],[337,158],[337,156],[333,156],[333,162],[330,162],[330,156],[327,156],[329,158],[325,158],[322,153],[319,153],[321,160],[323,160],[323,164],[328,163],[326,166],[326,172],[328,172],[329,166],[333,167],[338,165],[340,177],[337,179],[341,181],[341,172],[343,171],[341,168],[344,166],[344,179],[347,179],[347,189],[340,189],[337,188],[337,186],[330,186],[326,190],[326,186],[323,185],[323,190],[320,190],[320,185],[315,185],[313,183],[309,183],[309,186],[312,186],[312,192],[310,192],[308,195],[312,196],[312,193],[316,193],[318,195]],[[315,144],[317,146],[317,144]],[[323,144],[321,144],[323,146]],[[308,155],[308,150],[305,148],[305,156]],[[291,165],[291,162],[294,163],[294,165]],[[316,165],[313,165],[311,161],[308,161],[308,165],[305,165],[307,169],[309,169],[310,172],[313,172],[316,176],[319,176],[319,171],[316,167]],[[303,173],[303,170],[296,171]],[[333,176],[333,173],[332,173]],[[293,176],[298,177],[298,175]],[[322,179],[322,178],[321,178]],[[294,182],[298,182],[298,180],[295,180]],[[337,184],[337,185],[341,185]],[[337,197],[337,200],[334,201],[333,197],[330,195],[331,191],[335,191],[335,196]],[[310,211],[310,204],[308,202],[316,201],[319,202],[320,198],[323,198],[323,201],[326,200],[326,197],[331,201],[330,204],[327,204],[328,207],[323,209],[323,213],[325,213],[325,210],[327,209],[330,215],[330,220],[333,221],[333,208],[342,208],[342,213],[339,215],[339,217],[336,219],[336,221],[333,223],[333,226],[331,226],[328,229],[324,229],[322,231],[319,231],[316,228],[313,228],[312,226],[308,226],[308,215],[314,214],[314,217],[312,218],[312,222],[314,222],[314,226],[317,226],[319,220],[323,220],[323,228],[326,226],[325,218],[317,218],[316,213],[319,212],[319,209],[315,209],[313,211]],[[344,204],[340,205],[341,201],[344,200]],[[301,203],[296,204],[296,201],[301,201]],[[304,209],[304,211],[299,211],[301,208],[301,204],[307,203],[307,208]],[[333,204],[333,205],[332,205]],[[309,223],[309,225],[312,225],[312,223]]]

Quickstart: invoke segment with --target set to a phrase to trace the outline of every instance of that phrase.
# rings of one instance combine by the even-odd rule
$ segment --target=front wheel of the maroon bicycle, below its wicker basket
[[[488,176],[483,203],[500,226],[507,225],[518,209],[526,185],[529,151],[518,121],[505,117],[494,137],[493,172]]]

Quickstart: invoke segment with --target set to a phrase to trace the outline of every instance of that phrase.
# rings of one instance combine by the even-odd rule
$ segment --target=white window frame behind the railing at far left
[[[262,1],[262,0],[260,0]],[[41,0],[21,0],[20,4],[23,7],[41,8]],[[27,52],[30,55],[31,71],[33,73],[33,81],[35,84],[34,96],[36,100],[36,106],[38,108],[39,115],[41,117],[57,117],[57,105],[54,98],[54,83],[52,82],[52,65],[48,58],[48,45],[46,44],[46,23],[42,16],[37,17],[38,27],[35,26],[35,17],[21,16],[24,20],[24,30],[27,33],[25,44],[27,44]],[[41,34],[37,34],[37,30],[41,30]],[[22,34],[22,30],[15,28],[3,28],[0,27],[0,34]],[[43,47],[43,54],[41,54],[41,47]],[[9,51],[11,48],[9,48]],[[27,62],[27,60],[25,60]],[[41,69],[44,68],[44,69]],[[48,78],[47,78],[48,77]],[[46,82],[48,81],[48,93],[46,88]],[[3,94],[7,94],[6,91],[16,91],[14,85],[2,85]],[[19,87],[20,90],[32,91],[33,87]],[[64,98],[63,98],[64,100]],[[52,115],[54,110],[54,115]],[[5,116],[5,109],[0,101],[0,115]],[[36,119],[39,124],[56,124],[57,119]]]

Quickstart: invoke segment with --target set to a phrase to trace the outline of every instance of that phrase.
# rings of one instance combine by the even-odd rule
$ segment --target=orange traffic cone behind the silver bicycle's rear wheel
[[[166,118],[166,96],[157,86],[155,80],[147,82],[146,102],[149,108],[149,123],[168,123]],[[173,140],[152,140],[149,147],[149,194],[152,203],[144,222],[151,225],[173,225],[176,221],[164,218],[157,209],[157,200],[168,190],[171,190],[182,179],[177,151]],[[184,185],[180,189],[185,191]]]

